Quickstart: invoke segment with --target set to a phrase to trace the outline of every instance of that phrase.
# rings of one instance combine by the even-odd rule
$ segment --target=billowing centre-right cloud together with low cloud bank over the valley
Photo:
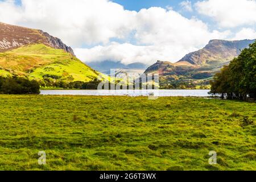
[[[123,64],[156,60],[175,62],[188,52],[203,48],[210,39],[224,39],[230,32],[209,31],[198,19],[187,19],[173,10],[160,7],[142,9],[134,19],[134,38],[138,45],[110,43],[108,46],[75,49],[85,62],[121,61]]]

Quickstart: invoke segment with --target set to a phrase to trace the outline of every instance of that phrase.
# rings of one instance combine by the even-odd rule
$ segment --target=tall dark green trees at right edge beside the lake
[[[222,98],[246,100],[256,98],[256,42],[243,49],[240,56],[233,59],[210,82],[212,94]]]

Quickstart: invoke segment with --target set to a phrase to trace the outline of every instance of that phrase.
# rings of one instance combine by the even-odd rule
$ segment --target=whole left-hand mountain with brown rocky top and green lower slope
[[[0,23],[0,75],[91,81],[100,74],[77,59],[59,38]]]

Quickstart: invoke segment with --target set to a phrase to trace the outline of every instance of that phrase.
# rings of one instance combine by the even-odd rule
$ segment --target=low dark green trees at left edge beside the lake
[[[35,80],[24,77],[0,77],[0,93],[2,94],[39,94],[40,85]]]

